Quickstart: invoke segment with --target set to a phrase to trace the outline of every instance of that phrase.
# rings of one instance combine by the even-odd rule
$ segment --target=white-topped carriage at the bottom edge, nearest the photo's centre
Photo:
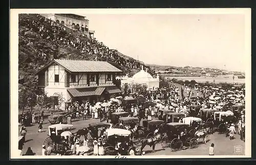
[[[131,140],[131,131],[119,128],[107,129],[104,142],[104,155],[129,155],[130,151],[135,150]]]

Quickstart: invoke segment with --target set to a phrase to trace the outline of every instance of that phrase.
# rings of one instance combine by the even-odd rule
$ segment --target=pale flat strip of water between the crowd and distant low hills
[[[217,77],[207,77],[207,76],[201,76],[201,77],[175,77],[175,76],[165,76],[165,79],[170,79],[172,80],[173,78],[177,80],[195,80],[196,82],[206,82],[208,81],[209,83],[213,83],[215,80],[215,83],[245,83],[245,79],[239,79],[238,76],[234,76],[233,80],[233,75],[225,75],[225,77],[228,76],[228,78],[224,78],[223,75],[217,76]]]

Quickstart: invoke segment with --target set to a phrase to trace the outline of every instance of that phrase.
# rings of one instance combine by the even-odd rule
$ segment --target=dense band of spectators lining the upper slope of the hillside
[[[82,33],[67,32],[67,27],[48,19],[44,16],[36,14],[37,19],[19,18],[19,25],[24,26],[28,31],[35,32],[41,36],[42,39],[47,39],[56,43],[55,45],[66,45],[78,49],[82,54],[96,55],[95,60],[113,61],[120,66],[127,68],[140,69],[143,65],[148,72],[154,73],[149,66],[134,60],[132,58],[125,58],[118,54],[117,50],[110,49],[99,42],[96,38],[88,37]],[[71,33],[72,32],[72,33]],[[79,31],[77,31],[79,32]],[[25,33],[25,32],[24,32]],[[38,54],[41,59],[46,61],[47,55],[44,52]],[[81,57],[82,58],[82,57]]]

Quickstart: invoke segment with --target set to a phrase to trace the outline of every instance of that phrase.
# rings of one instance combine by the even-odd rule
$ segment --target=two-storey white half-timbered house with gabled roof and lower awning
[[[66,101],[102,101],[121,92],[115,85],[121,72],[105,61],[54,59],[36,74],[48,96],[62,93]]]

